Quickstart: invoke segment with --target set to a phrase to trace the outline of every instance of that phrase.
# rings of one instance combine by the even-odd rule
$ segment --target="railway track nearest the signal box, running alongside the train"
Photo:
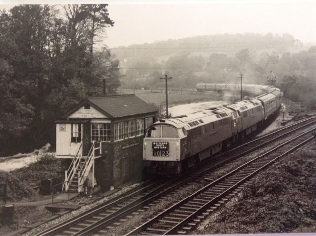
[[[115,227],[116,225],[127,221],[133,212],[144,209],[146,210],[151,202],[154,202],[162,196],[166,196],[172,191],[181,191],[181,188],[183,188],[184,185],[192,185],[192,181],[196,181],[198,178],[202,178],[205,182],[205,179],[208,179],[205,175],[215,168],[218,168],[226,163],[231,163],[232,160],[256,150],[258,147],[263,147],[264,145],[269,145],[271,142],[276,142],[272,140],[281,139],[283,136],[289,135],[289,133],[300,132],[299,130],[304,127],[306,129],[307,126],[312,124],[316,125],[315,122],[315,117],[306,119],[296,123],[295,125],[291,125],[269,135],[262,136],[224,154],[217,155],[207,161],[208,163],[203,163],[201,167],[188,174],[185,178],[169,180],[167,182],[163,180],[146,182],[143,185],[128,191],[123,196],[114,197],[110,201],[81,213],[72,219],[40,232],[37,236],[87,235],[91,232],[99,231],[100,229],[100,234],[102,234],[105,232],[104,230],[102,231],[105,227]],[[294,135],[297,136],[297,134]],[[242,151],[239,151],[241,149]],[[207,186],[208,183],[205,185]],[[161,232],[159,234],[161,234]]]

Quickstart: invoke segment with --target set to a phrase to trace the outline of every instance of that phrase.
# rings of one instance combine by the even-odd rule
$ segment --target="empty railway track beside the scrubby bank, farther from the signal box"
[[[247,186],[260,170],[314,139],[313,132],[315,132],[315,129],[313,131],[309,130],[256,157],[169,207],[127,235],[186,234],[206,215],[209,215],[210,212],[217,209]]]

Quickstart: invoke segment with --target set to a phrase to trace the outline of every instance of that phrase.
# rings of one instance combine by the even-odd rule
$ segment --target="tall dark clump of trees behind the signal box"
[[[93,51],[114,23],[107,5],[62,10],[65,15],[53,5],[19,5],[0,12],[1,150],[9,143],[31,150],[54,143],[58,117],[85,96],[101,95],[102,79],[109,93],[120,85],[118,60]]]

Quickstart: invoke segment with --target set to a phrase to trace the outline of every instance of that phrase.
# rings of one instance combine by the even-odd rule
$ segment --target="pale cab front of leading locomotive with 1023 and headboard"
[[[186,132],[170,124],[151,125],[144,138],[143,160],[152,173],[177,174],[181,171],[181,139]]]

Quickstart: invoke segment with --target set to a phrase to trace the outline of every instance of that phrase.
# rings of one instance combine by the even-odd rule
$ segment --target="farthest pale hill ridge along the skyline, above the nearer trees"
[[[134,44],[128,47],[112,48],[111,51],[121,62],[135,63],[144,60],[155,60],[158,63],[166,61],[170,56],[187,52],[193,55],[208,57],[212,53],[224,53],[235,56],[242,49],[250,51],[277,51],[302,50],[304,45],[292,35],[282,36],[257,33],[245,34],[217,34],[188,37],[183,39],[169,39],[155,43]]]

